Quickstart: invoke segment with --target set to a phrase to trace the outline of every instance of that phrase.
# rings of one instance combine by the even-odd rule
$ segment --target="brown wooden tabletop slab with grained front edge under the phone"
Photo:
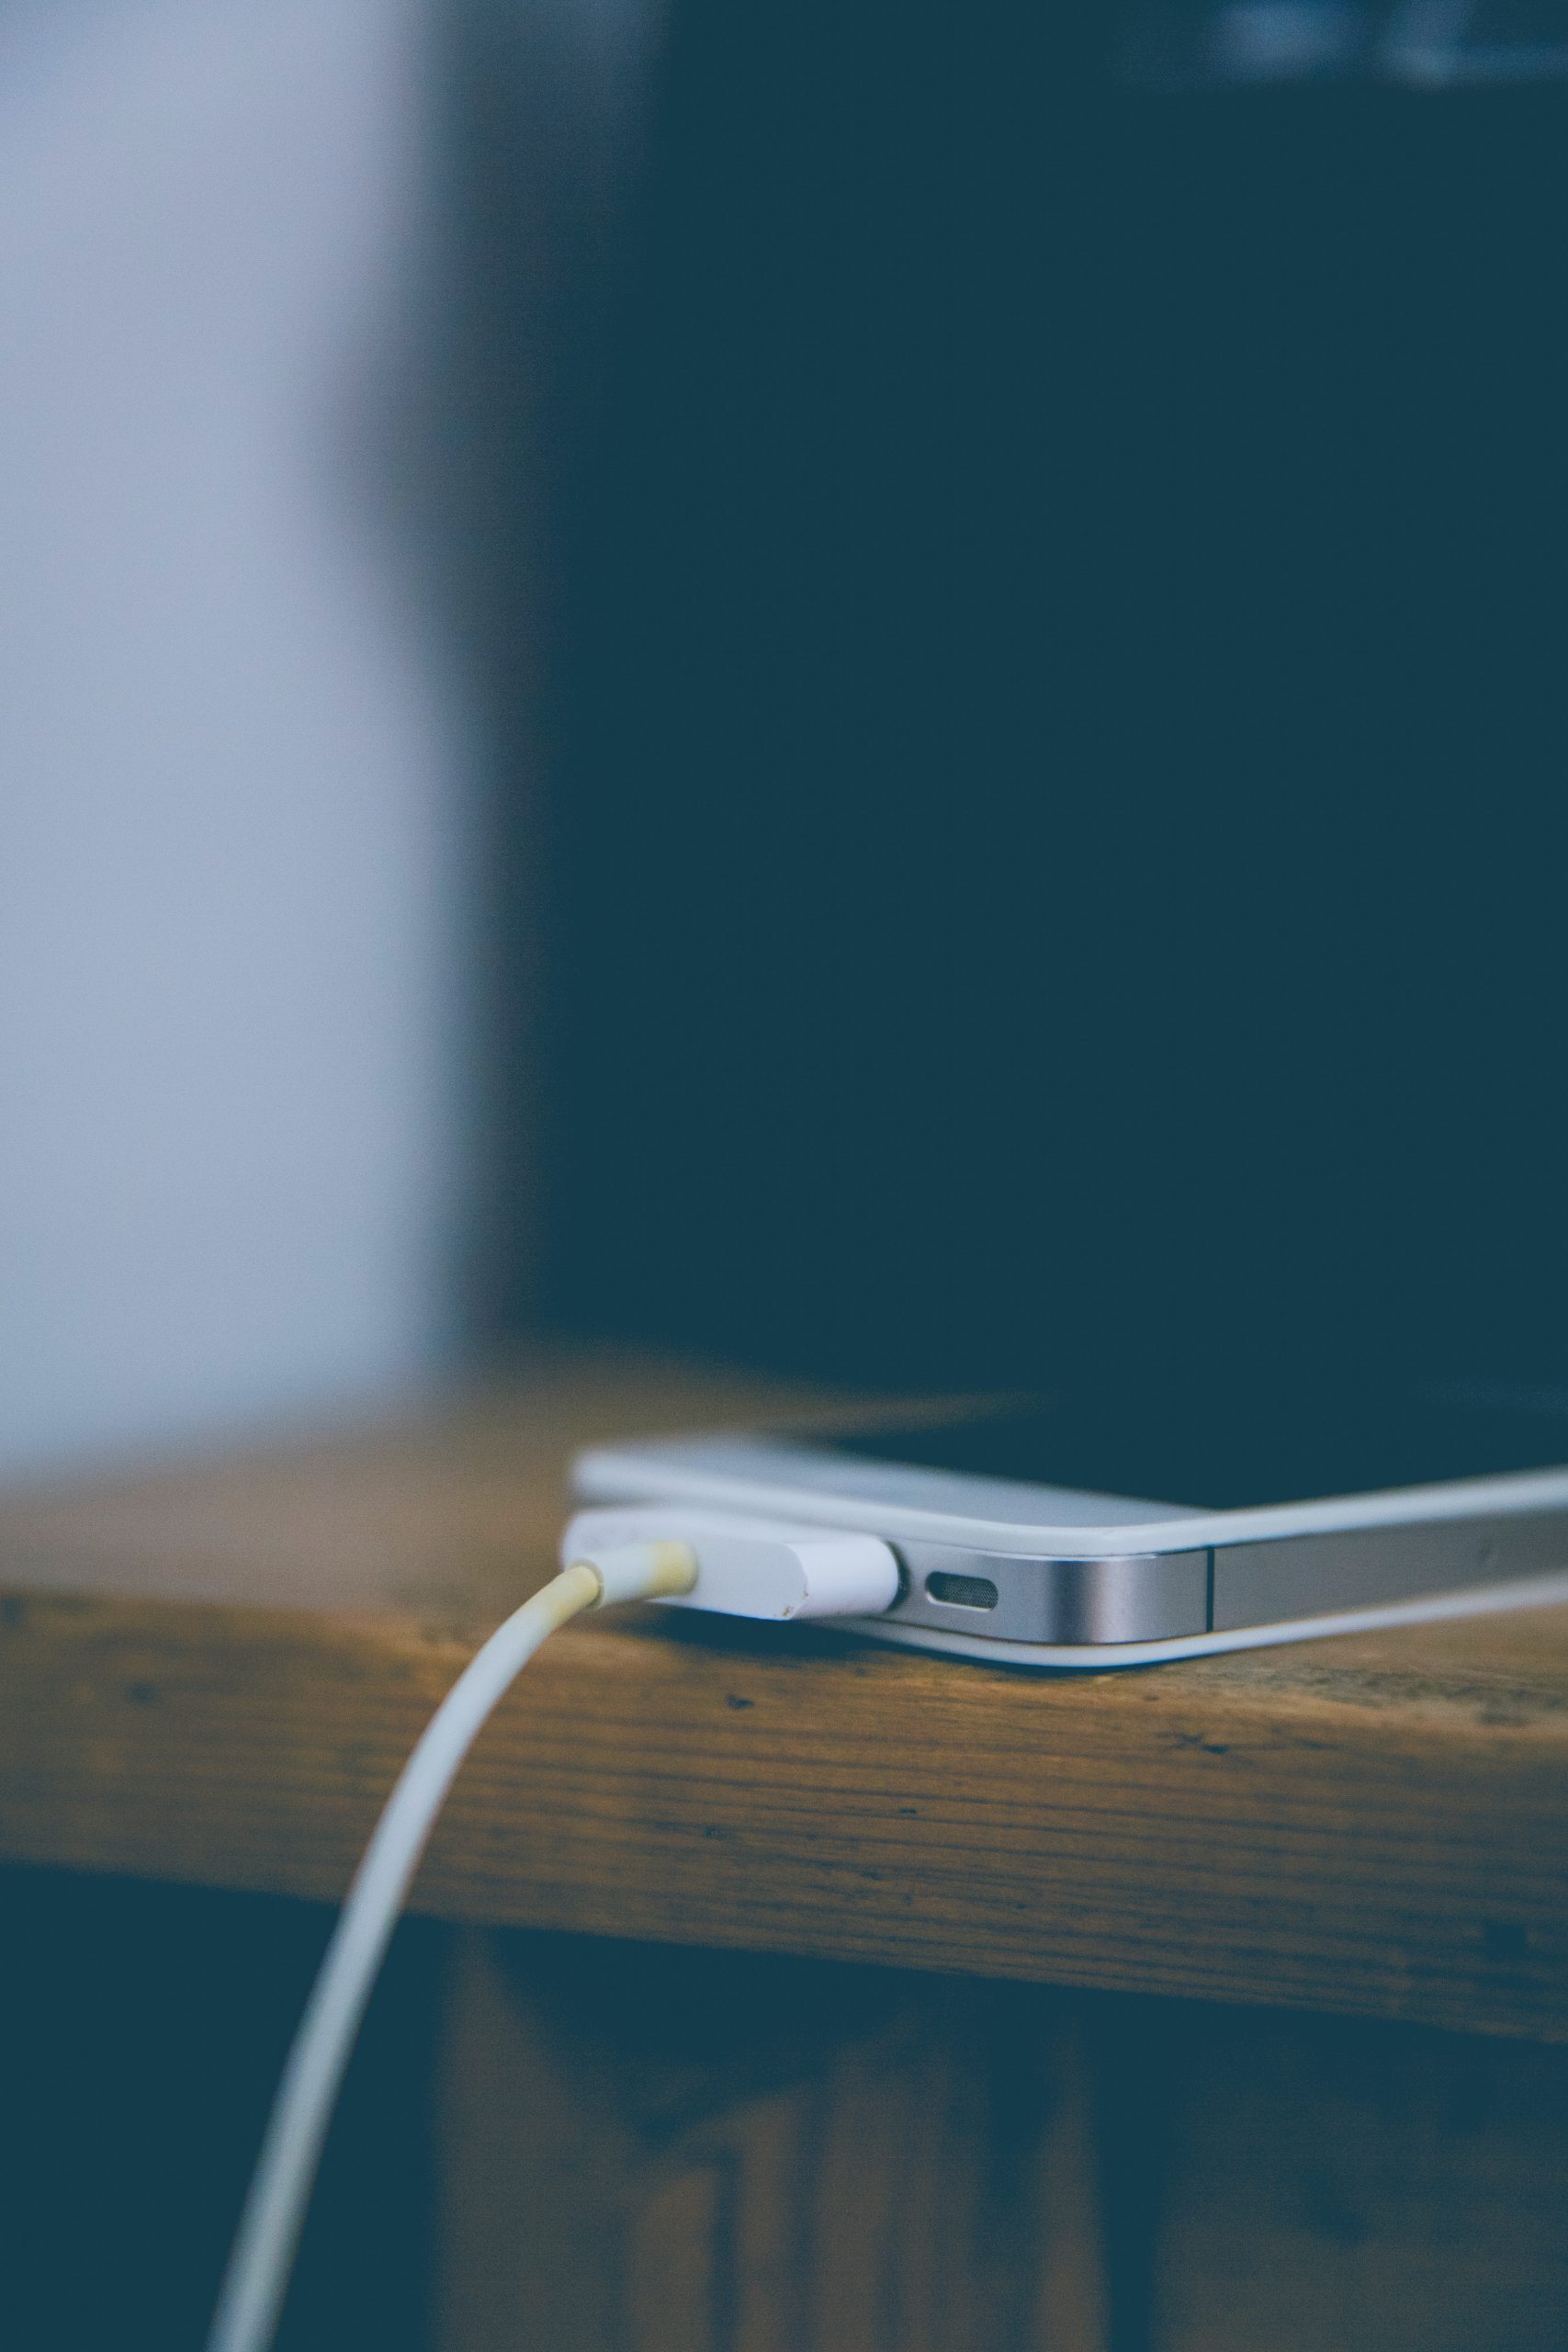
[[[0,1856],[341,1893],[571,1444],[757,1388],[559,1362],[407,1430],[0,1508]],[[454,1919],[1568,2037],[1568,1611],[1048,1679],[569,1628],[418,1882]]]

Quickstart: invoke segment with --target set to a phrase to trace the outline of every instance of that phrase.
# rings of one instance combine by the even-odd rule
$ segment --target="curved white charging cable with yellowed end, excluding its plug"
[[[639,1555],[639,1557],[635,1557]],[[534,1651],[581,1609],[689,1590],[686,1545],[642,1543],[562,1569],[475,1651],[402,1766],[327,1945],[273,2098],[207,2352],[268,2352],[327,2126],[364,2009],[463,1757]]]

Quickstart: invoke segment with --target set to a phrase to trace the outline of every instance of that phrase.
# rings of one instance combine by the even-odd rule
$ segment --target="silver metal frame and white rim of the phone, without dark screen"
[[[846,1630],[1011,1665],[1143,1665],[1568,1599],[1568,1470],[1171,1512],[839,1456],[802,1432],[597,1446],[574,1494],[877,1534],[903,1590]],[[954,1599],[964,1588],[994,1599]]]

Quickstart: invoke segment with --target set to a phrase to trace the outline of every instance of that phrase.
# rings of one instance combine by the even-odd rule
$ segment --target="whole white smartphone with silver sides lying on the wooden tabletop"
[[[1147,1665],[1568,1599],[1568,1395],[1107,1392],[595,1446],[571,1543],[712,1515],[875,1534],[844,1630],[1041,1668]]]

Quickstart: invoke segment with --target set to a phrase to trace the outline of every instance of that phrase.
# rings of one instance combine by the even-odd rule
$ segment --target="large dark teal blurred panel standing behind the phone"
[[[555,670],[550,1319],[1568,1369],[1549,31],[677,9]]]

